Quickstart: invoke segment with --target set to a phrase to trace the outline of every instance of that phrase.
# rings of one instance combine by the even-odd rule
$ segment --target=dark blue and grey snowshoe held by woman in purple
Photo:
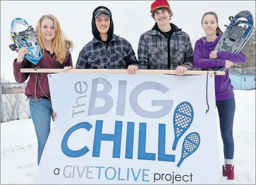
[[[244,20],[246,19],[246,20]],[[249,41],[255,30],[253,26],[253,16],[248,10],[240,11],[235,17],[229,17],[229,26],[221,36],[215,51],[226,51],[230,53],[239,53],[244,45]],[[209,68],[214,71],[224,71],[223,66]]]

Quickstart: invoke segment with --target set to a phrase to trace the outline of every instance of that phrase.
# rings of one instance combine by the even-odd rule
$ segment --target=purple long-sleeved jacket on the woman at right
[[[193,62],[196,68],[201,68],[201,70],[208,70],[208,68],[212,67],[225,66],[225,59],[230,60],[233,63],[246,63],[246,55],[244,55],[243,52],[230,53],[225,51],[218,51],[216,59],[209,59],[210,52],[214,51],[214,48],[219,42],[221,36],[222,35],[218,35],[213,42],[206,41],[205,37],[196,41],[193,54]],[[216,101],[228,100],[233,96],[233,86],[231,85],[228,69],[226,69],[224,76],[215,76]]]

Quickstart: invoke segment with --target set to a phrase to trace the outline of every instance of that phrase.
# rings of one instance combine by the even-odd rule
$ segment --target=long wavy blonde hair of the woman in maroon
[[[36,33],[38,34],[37,41],[41,48],[42,54],[44,53],[45,45],[44,45],[43,35],[41,32],[41,25],[42,25],[42,20],[44,19],[53,20],[55,38],[52,42],[52,49],[57,56],[57,60],[62,64],[66,57],[66,54],[72,52],[74,44],[72,41],[66,38],[66,36],[64,35],[60,27],[60,23],[56,17],[54,17],[53,15],[43,15],[36,24]]]

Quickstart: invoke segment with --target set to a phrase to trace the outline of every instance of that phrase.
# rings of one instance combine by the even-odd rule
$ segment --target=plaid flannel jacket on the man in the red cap
[[[168,45],[157,30],[149,30],[140,36],[138,46],[140,69],[168,69]],[[171,69],[177,66],[193,70],[193,47],[190,37],[183,31],[174,31],[170,38]]]

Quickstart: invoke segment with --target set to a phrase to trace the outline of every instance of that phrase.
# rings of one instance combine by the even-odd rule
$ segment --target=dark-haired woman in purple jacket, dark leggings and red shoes
[[[225,164],[222,165],[222,175],[227,177],[228,180],[233,180],[234,142],[232,132],[236,104],[228,68],[233,66],[234,63],[245,64],[246,55],[243,52],[230,53],[214,51],[222,36],[222,31],[218,26],[218,17],[214,12],[205,13],[201,24],[206,36],[197,40],[195,43],[193,55],[194,66],[202,70],[219,66],[227,68],[224,76],[215,76],[215,97],[219,114],[221,138],[224,144]]]

